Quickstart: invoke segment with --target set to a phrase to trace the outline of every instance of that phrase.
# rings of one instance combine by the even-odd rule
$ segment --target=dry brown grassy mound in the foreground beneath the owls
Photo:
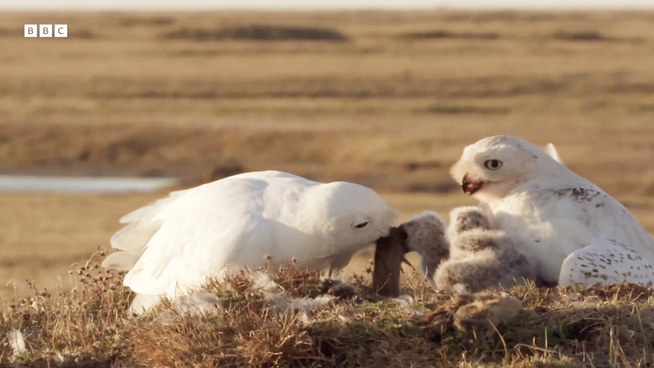
[[[379,299],[353,275],[351,295],[341,293],[326,308],[312,310],[271,310],[272,299],[248,278],[235,276],[209,284],[220,301],[208,312],[175,314],[163,306],[162,320],[126,318],[129,292],[120,275],[94,265],[92,260],[77,270],[73,291],[35,289],[4,307],[0,331],[21,331],[26,350],[14,356],[3,337],[0,365],[643,367],[654,362],[649,338],[654,290],[639,285],[515,287],[509,294],[523,304],[517,316],[497,325],[480,320],[437,331],[438,316],[458,308],[457,299],[434,291],[415,274],[403,289],[411,304]],[[292,265],[272,275],[292,297],[332,293],[317,274]]]

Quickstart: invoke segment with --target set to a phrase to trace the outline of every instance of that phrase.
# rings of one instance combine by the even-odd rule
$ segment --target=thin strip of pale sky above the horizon
[[[654,0],[0,0],[0,9],[645,9]]]

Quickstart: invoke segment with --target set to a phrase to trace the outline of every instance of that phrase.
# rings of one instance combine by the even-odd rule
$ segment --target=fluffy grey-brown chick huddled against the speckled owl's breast
[[[439,265],[434,281],[439,289],[464,287],[476,292],[511,287],[534,280],[536,272],[503,230],[492,230],[474,206],[450,212],[450,258]]]

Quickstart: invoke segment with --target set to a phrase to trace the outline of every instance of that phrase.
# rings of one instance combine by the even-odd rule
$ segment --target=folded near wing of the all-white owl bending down
[[[239,264],[264,264],[273,247],[271,221],[258,215],[199,215],[179,212],[165,221],[124,284],[136,293],[174,296],[218,276],[241,255],[251,257]]]

